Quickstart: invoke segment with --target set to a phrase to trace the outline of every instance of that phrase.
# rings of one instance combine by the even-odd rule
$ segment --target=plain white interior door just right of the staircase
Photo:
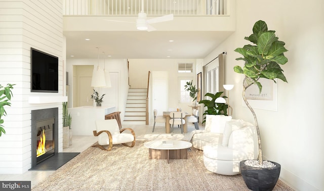
[[[168,111],[168,95],[168,72],[152,71],[152,109],[157,110],[157,115]]]

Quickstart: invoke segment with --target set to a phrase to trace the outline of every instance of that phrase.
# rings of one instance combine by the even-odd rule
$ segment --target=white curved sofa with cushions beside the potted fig
[[[204,165],[214,173],[239,174],[239,162],[258,157],[256,127],[231,116],[207,115],[205,130],[191,132],[192,146],[204,151]]]

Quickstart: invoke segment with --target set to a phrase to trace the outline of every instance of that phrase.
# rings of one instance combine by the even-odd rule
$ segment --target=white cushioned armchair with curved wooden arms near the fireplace
[[[119,130],[116,119],[97,120],[96,129],[93,131],[94,136],[98,136],[98,145],[92,147],[99,147],[102,150],[110,151],[113,145],[123,144],[126,147],[134,147],[135,145],[135,132],[131,128],[124,128]],[[121,133],[129,130],[130,133]],[[126,143],[131,142],[131,145]],[[107,149],[104,146],[108,146]]]

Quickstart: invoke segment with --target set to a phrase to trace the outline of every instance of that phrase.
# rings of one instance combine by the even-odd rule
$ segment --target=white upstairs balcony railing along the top
[[[144,0],[144,12],[156,15],[228,15],[228,0]],[[66,16],[136,16],[141,0],[63,0]]]

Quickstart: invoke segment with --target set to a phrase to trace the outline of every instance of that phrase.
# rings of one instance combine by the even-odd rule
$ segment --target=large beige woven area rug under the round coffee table
[[[249,190],[241,175],[209,172],[203,152],[188,159],[148,159],[144,141],[133,148],[116,145],[112,151],[90,147],[63,165],[32,190]],[[293,190],[278,181],[274,190]]]

